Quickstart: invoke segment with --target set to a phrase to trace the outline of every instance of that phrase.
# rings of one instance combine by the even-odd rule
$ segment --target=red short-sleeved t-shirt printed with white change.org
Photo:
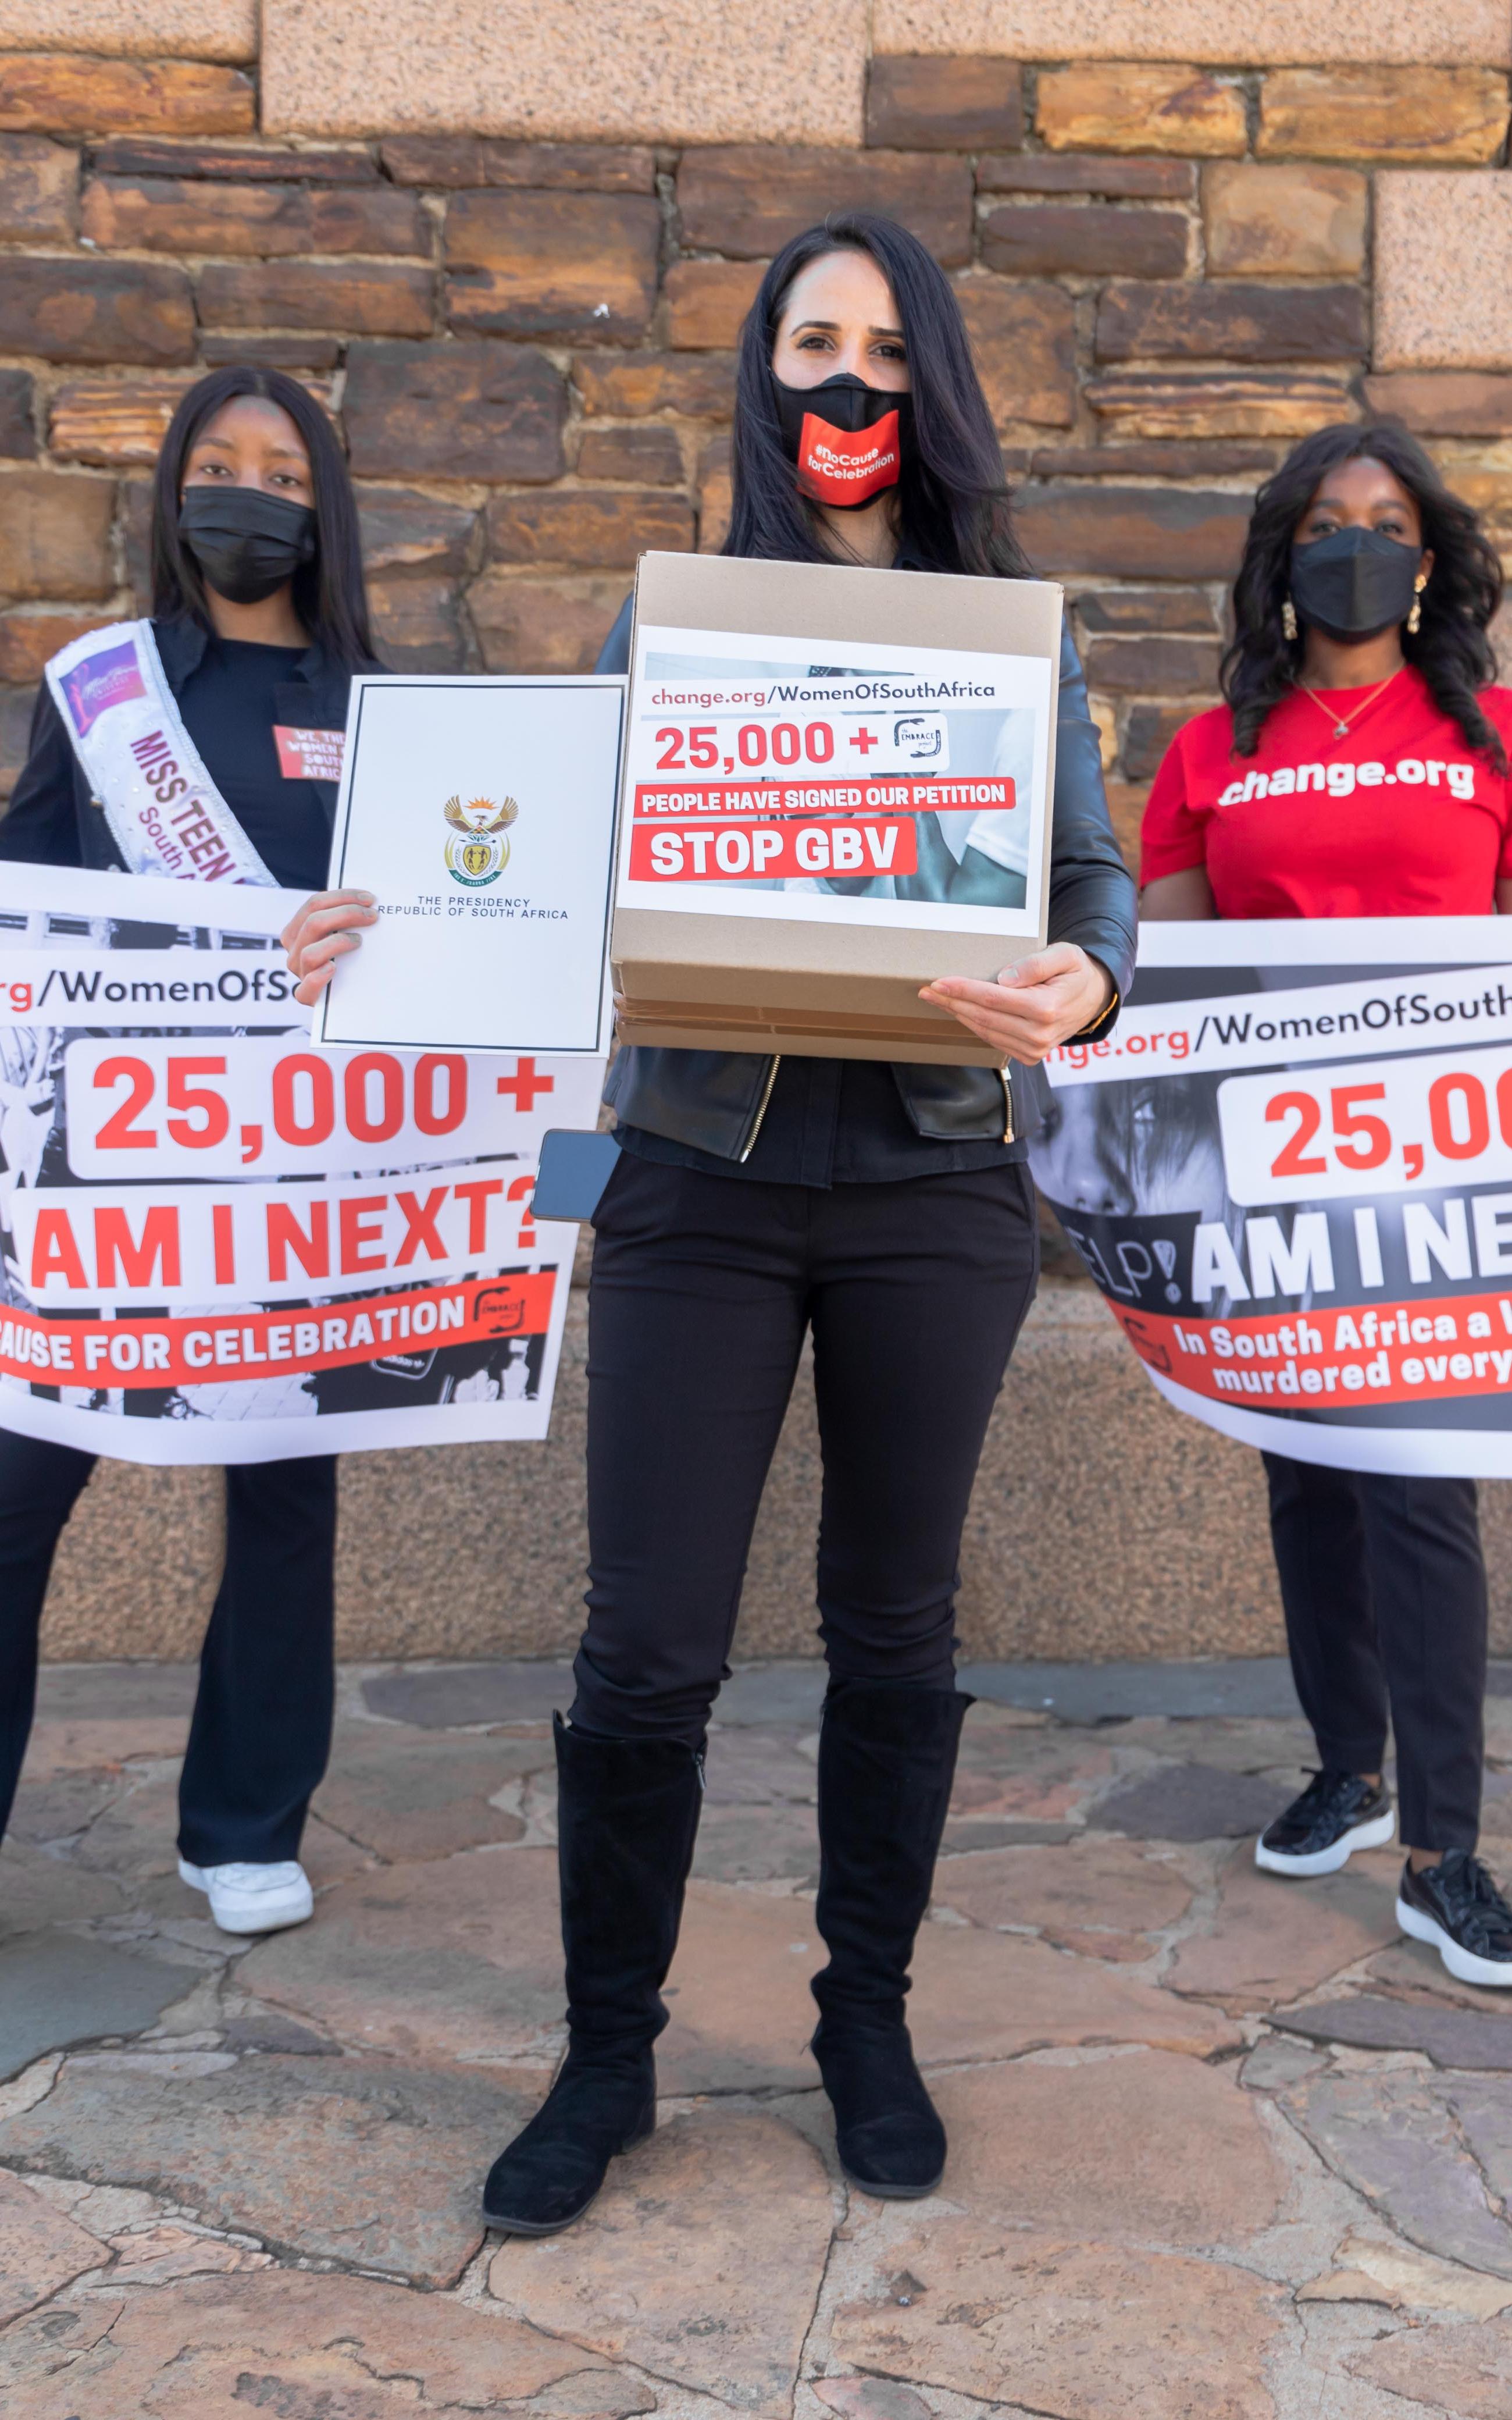
[[[1459,724],[1403,666],[1369,690],[1294,690],[1253,757],[1231,755],[1229,707],[1171,741],[1144,808],[1139,881],[1205,866],[1222,917],[1490,915],[1512,874],[1512,779],[1471,755]],[[1323,707],[1331,711],[1326,714]],[[1481,690],[1512,760],[1512,690]]]

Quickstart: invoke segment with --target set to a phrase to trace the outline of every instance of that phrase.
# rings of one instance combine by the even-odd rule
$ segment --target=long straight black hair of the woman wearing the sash
[[[206,583],[194,554],[179,537],[179,491],[194,440],[206,421],[240,394],[256,394],[288,411],[305,440],[314,486],[314,561],[300,564],[293,603],[300,622],[334,663],[375,663],[368,624],[368,588],[363,583],[363,542],[358,503],[346,472],[346,455],[327,414],[312,394],[283,370],[256,370],[237,363],[210,370],[184,394],[174,411],[157,472],[152,477],[152,620],[191,620],[210,629]]]

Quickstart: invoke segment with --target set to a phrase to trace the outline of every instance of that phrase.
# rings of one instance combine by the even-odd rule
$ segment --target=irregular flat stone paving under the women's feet
[[[815,1675],[738,1675],[660,2127],[573,2234],[484,2238],[559,2050],[561,1679],[348,1670],[317,1917],[249,1946],[174,1876],[189,1675],[46,1675],[0,1856],[0,2410],[1505,2420],[1512,2006],[1398,1938],[1393,1854],[1256,1873],[1309,1747],[1272,1684],[975,1704],[912,2004],[951,2166],[885,2205],[803,2047]],[[1505,1696],[1490,1745],[1512,1861]]]

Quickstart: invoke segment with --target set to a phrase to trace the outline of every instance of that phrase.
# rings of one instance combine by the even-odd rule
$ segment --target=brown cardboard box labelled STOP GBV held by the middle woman
[[[622,1036],[999,1065],[917,995],[1045,944],[1060,627],[1048,581],[644,554]]]

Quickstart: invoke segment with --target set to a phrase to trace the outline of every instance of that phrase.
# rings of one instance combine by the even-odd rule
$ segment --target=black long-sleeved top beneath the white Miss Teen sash
[[[218,791],[276,881],[324,891],[336,820],[334,782],[285,782],[273,726],[344,731],[351,670],[319,646],[213,639],[198,622],[152,622],[167,685]],[[382,673],[373,661],[363,670]],[[119,866],[114,832],[44,682],[27,765],[0,820],[0,859]]]

